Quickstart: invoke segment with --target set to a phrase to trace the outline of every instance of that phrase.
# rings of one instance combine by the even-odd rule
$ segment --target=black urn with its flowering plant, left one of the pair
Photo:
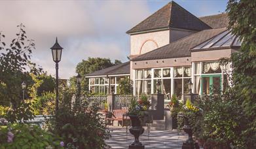
[[[139,136],[144,133],[144,128],[141,125],[142,118],[144,117],[143,106],[139,104],[136,99],[131,100],[130,107],[128,109],[128,116],[132,122],[132,127],[129,129],[130,133],[134,135],[134,142],[130,144],[129,148],[144,148],[141,142],[139,142]]]

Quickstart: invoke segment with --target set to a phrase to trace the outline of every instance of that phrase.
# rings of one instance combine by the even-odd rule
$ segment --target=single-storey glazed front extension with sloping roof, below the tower
[[[219,59],[230,58],[240,45],[227,29],[210,29],[137,56],[132,59],[134,94],[156,93],[158,82],[166,98],[174,94],[183,97],[189,93],[190,79],[192,92],[199,95],[225,90],[232,70],[230,63],[221,65]],[[215,90],[210,90],[211,87]]]

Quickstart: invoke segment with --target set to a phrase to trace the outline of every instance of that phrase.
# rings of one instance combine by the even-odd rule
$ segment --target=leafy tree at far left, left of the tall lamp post
[[[5,35],[0,32],[0,105],[9,106],[7,118],[10,122],[27,120],[31,118],[31,104],[22,100],[22,82],[31,85],[29,73],[39,74],[42,69],[37,69],[35,63],[30,61],[32,50],[35,49],[33,40],[27,40],[25,26],[20,24],[16,38],[8,47],[3,39]]]

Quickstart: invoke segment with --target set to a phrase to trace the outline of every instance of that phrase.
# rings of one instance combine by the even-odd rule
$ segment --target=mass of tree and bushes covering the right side
[[[229,29],[242,41],[240,52],[233,53],[228,60],[232,63],[231,88],[196,101],[194,106],[202,112],[185,112],[194,136],[205,147],[256,147],[255,8],[255,1],[229,1]],[[227,63],[227,59],[221,63]]]

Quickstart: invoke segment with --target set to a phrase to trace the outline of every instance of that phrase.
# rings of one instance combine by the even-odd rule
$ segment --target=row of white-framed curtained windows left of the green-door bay
[[[172,72],[172,70],[174,72]],[[151,74],[151,72],[153,72],[153,74]],[[141,73],[143,73],[142,76]],[[157,93],[157,90],[159,90],[160,93],[164,93],[168,95],[168,97],[170,97],[172,93],[181,97],[183,93],[189,93],[187,82],[191,79],[191,73],[191,67],[136,70],[136,95],[140,95],[141,93],[150,94],[151,90],[153,91],[152,93]],[[174,79],[175,82],[172,82],[172,79]],[[153,84],[151,82],[153,82]],[[172,86],[174,86],[174,89],[172,89]]]

